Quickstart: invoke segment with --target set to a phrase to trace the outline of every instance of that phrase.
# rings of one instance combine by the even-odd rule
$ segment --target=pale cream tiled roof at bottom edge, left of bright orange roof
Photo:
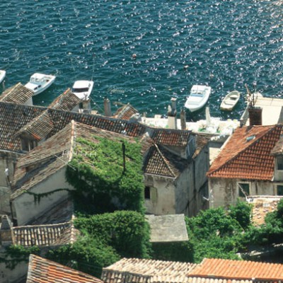
[[[195,266],[195,264],[188,262],[123,258],[113,265],[103,268],[101,279],[108,283],[158,282],[162,278],[166,278],[164,282],[184,282],[183,277]],[[155,281],[154,277],[159,280]],[[183,279],[180,280],[180,278]]]

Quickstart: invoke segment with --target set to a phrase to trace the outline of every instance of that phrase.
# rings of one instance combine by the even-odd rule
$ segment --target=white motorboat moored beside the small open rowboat
[[[200,110],[207,103],[211,91],[212,88],[210,86],[192,86],[190,96],[187,97],[187,101],[185,102],[185,108],[190,110],[190,112]]]

